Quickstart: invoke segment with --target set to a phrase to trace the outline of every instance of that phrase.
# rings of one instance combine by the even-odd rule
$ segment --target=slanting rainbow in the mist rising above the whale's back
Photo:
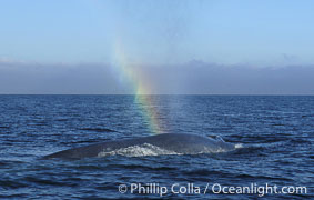
[[[150,96],[153,93],[152,86],[143,71],[139,67],[131,66],[126,61],[123,46],[120,42],[115,42],[114,70],[120,74],[120,79],[128,80],[128,82],[132,84],[132,89],[135,93],[134,101],[146,119],[151,132],[155,134],[163,133],[164,131],[160,122],[158,110],[153,106],[153,99]]]

